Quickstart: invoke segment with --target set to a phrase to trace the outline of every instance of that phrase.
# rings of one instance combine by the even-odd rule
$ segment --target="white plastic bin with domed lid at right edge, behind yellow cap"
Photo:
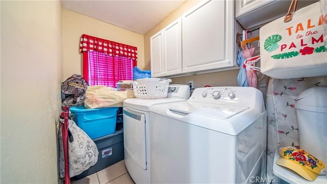
[[[303,91],[295,108],[300,148],[327,163],[327,86]]]

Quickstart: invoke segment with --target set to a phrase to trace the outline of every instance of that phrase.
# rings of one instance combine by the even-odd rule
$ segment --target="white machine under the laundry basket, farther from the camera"
[[[135,183],[150,183],[149,108],[157,104],[186,101],[188,85],[169,85],[167,98],[130,98],[123,102],[124,157],[126,168]]]

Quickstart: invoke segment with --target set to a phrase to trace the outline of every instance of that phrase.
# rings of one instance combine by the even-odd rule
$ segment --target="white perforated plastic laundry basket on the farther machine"
[[[146,78],[133,81],[134,96],[145,99],[166,98],[171,79]]]

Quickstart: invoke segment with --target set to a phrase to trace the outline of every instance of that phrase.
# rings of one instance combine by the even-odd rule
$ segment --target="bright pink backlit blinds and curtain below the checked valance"
[[[85,53],[87,53],[87,61],[85,62],[84,58],[84,78],[89,85],[116,87],[116,83],[120,80],[132,80],[133,59],[109,56],[97,51]]]

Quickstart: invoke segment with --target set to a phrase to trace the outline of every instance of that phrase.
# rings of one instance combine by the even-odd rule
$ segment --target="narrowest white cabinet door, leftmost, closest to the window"
[[[151,49],[151,77],[162,77],[164,75],[164,48],[162,31],[150,38]]]

